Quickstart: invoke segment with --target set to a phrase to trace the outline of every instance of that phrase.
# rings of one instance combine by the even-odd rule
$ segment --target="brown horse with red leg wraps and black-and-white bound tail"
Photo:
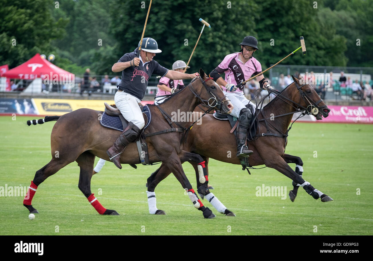
[[[216,109],[220,108],[226,113],[230,113],[233,107],[219,86],[212,78],[207,78],[202,69],[200,69],[200,77],[194,78],[187,87],[175,93],[167,101],[158,107],[149,105],[152,115],[151,122],[144,133],[154,134],[164,131],[162,134],[149,136],[146,139],[150,163],[162,161],[175,174],[182,187],[188,190],[189,198],[191,198],[194,206],[198,210],[203,211],[205,218],[212,218],[214,214],[200,202],[185,177],[181,165],[181,162],[187,160],[201,162],[202,158],[182,149],[181,139],[185,131],[175,131],[176,129],[181,130],[183,127],[177,121],[172,121],[169,116],[176,111],[180,114],[191,114],[200,103],[208,104]],[[69,163],[76,161],[80,167],[78,187],[88,198],[88,201],[100,214],[118,215],[115,210],[104,208],[91,193],[90,188],[95,156],[110,161],[106,150],[120,134],[117,130],[100,125],[98,119],[102,113],[91,109],[78,109],[62,116],[45,118],[46,121],[57,120],[51,133],[52,159],[47,165],[36,171],[34,180],[31,182],[30,189],[23,201],[23,205],[30,212],[38,213],[31,205],[32,197],[37,187],[46,178],[55,174]],[[39,124],[43,122],[43,119],[38,120]],[[35,121],[32,123],[36,124]],[[55,154],[57,151],[58,157]],[[122,164],[140,164],[140,157],[135,143],[131,143],[125,149],[120,156],[120,161]]]

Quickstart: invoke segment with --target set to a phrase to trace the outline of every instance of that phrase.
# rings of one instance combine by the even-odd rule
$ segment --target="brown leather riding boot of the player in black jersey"
[[[139,136],[141,130],[132,122],[128,122],[128,127],[120,134],[118,139],[114,142],[114,145],[111,146],[107,151],[110,160],[119,168],[122,169],[120,165],[120,153],[126,148],[126,146],[133,142],[137,136]]]

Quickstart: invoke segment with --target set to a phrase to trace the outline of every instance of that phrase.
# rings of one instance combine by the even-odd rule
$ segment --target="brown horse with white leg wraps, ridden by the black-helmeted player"
[[[304,112],[311,114],[316,119],[322,119],[322,116],[327,117],[330,109],[317,95],[314,88],[308,84],[301,84],[302,80],[293,77],[294,83],[290,84],[281,93],[275,93],[276,98],[263,109],[257,111],[258,130],[257,139],[249,143],[249,147],[254,151],[250,158],[248,158],[250,166],[258,166],[265,164],[267,167],[274,168],[280,173],[286,175],[293,180],[294,190],[289,193],[291,201],[294,201],[299,186],[302,186],[306,192],[313,196],[313,198],[321,198],[322,202],[333,200],[329,196],[323,194],[319,190],[314,189],[307,181],[303,180],[303,162],[300,157],[285,154],[285,147],[287,144],[288,127],[295,112]],[[298,102],[295,102],[298,101]],[[320,110],[319,110],[320,109]],[[200,108],[196,108],[200,110]],[[273,118],[271,117],[273,116]],[[270,120],[270,119],[273,120]],[[265,120],[264,120],[265,119]],[[218,161],[228,162],[232,164],[241,165],[240,159],[228,157],[228,151],[235,153],[236,139],[230,133],[231,125],[228,121],[220,121],[213,117],[213,115],[205,115],[201,121],[202,124],[195,125],[189,133],[184,150],[203,155],[205,159],[206,171],[208,171],[208,159],[213,158]],[[217,131],[219,135],[217,135]],[[291,169],[288,163],[296,164],[296,172]],[[198,166],[194,162],[193,165],[197,175],[197,187],[201,197],[209,195],[210,191],[207,189],[206,181],[201,184],[198,175]],[[167,177],[172,171],[162,164],[147,180],[148,191],[154,192],[157,184]],[[215,198],[212,193],[209,195],[209,201]],[[215,200],[217,202],[217,199]],[[213,201],[210,203],[213,204]],[[231,211],[218,203],[213,204],[217,206],[219,212],[233,215]]]

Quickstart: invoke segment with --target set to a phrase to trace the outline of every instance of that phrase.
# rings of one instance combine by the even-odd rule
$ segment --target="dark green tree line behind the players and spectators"
[[[138,45],[147,1],[2,0],[0,62],[18,66],[35,53],[56,56],[54,63],[75,74],[89,67],[94,74],[113,74],[111,67]],[[162,53],[155,59],[171,68],[189,59],[205,27],[188,72],[210,72],[225,55],[239,52],[242,39],[253,35],[254,57],[263,70],[300,46],[285,64],[373,66],[373,1],[365,0],[154,0],[145,37]],[[15,42],[15,43],[14,43]]]

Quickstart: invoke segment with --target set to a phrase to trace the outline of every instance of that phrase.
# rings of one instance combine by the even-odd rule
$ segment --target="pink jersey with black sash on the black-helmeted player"
[[[245,64],[239,60],[240,53],[232,53],[225,56],[224,60],[215,68],[219,74],[225,73],[225,81],[237,85],[248,80],[251,76],[261,73],[261,65],[257,59],[251,57]],[[222,86],[227,91],[225,86]],[[242,93],[237,89],[234,92]]]

